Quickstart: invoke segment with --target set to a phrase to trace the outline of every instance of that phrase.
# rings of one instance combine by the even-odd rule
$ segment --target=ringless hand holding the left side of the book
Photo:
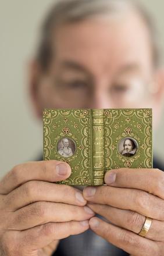
[[[88,229],[94,213],[81,191],[55,184],[67,163],[17,165],[0,182],[0,255],[51,255],[58,240]]]

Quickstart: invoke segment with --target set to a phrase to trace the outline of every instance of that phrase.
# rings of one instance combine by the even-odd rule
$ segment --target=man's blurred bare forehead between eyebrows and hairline
[[[72,60],[98,73],[138,62],[145,72],[151,69],[149,32],[134,11],[63,24],[54,33],[53,47],[58,65]]]

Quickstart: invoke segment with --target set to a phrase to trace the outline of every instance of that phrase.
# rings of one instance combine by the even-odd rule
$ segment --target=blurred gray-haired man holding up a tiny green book
[[[152,27],[134,3],[59,0],[44,23],[30,91],[39,118],[43,108],[152,107],[156,125],[162,82]],[[162,170],[111,170],[107,186],[83,194],[53,183],[69,175],[66,163],[39,161],[3,178],[1,255],[164,254]]]

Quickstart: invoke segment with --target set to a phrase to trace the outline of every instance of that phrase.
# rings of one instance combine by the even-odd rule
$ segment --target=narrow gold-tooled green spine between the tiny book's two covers
[[[92,185],[104,184],[104,109],[92,109]]]

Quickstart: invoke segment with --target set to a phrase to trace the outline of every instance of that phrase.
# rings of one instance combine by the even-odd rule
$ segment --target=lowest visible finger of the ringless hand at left
[[[47,246],[54,240],[63,239],[72,234],[80,234],[89,227],[88,221],[47,223],[22,232],[6,232],[3,243],[8,247],[8,255],[37,255],[40,248]],[[7,254],[6,254],[7,255]]]

